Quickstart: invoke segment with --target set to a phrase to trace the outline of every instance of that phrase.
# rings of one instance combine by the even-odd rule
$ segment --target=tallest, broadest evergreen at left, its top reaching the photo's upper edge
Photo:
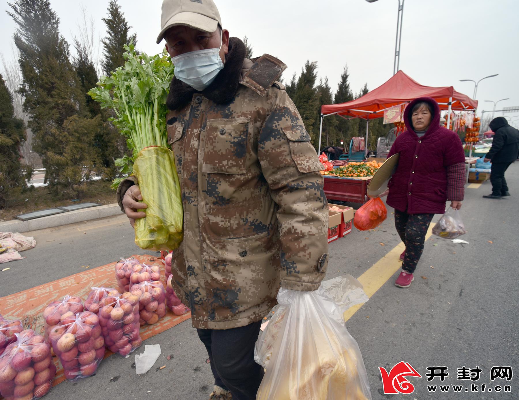
[[[67,150],[79,143],[93,149],[89,140],[94,134],[70,129],[71,118],[84,119],[88,112],[84,89],[70,62],[69,44],[59,33],[59,18],[48,0],[17,0],[9,6],[8,15],[18,25],[14,39],[23,77],[20,93],[30,116],[34,149],[46,169],[45,181],[54,194],[58,186],[74,189],[89,176],[84,167],[93,165],[96,157],[91,151],[70,157]],[[85,126],[98,129],[95,123]]]

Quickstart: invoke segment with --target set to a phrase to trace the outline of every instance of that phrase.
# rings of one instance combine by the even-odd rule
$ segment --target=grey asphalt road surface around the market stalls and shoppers
[[[506,199],[482,199],[490,191],[489,182],[466,189],[462,217],[469,232],[462,239],[469,244],[430,238],[411,287],[395,287],[395,273],[348,320],[348,330],[362,351],[374,400],[519,398],[519,163],[511,166],[507,178],[512,197]],[[391,211],[388,209],[388,220],[375,231],[354,229],[345,239],[330,244],[327,278],[344,273],[359,277],[399,244]],[[0,273],[1,296],[80,272],[81,266],[100,266],[121,256],[145,253],[133,244],[133,230],[125,216],[32,235],[38,243],[35,249],[24,252],[27,258],[9,263],[10,270]],[[387,262],[389,266],[399,261]],[[189,320],[144,344],[160,344],[162,350],[148,373],[135,374],[133,355],[126,359],[111,356],[95,376],[77,383],[63,382],[45,398],[208,398],[210,366]],[[400,361],[411,364],[422,377],[409,378],[415,386],[412,394],[384,394],[378,367],[389,370]],[[162,365],[166,368],[158,369]],[[491,367],[498,365],[514,368],[511,381],[490,380]],[[427,381],[427,367],[432,366],[448,367],[444,382],[440,378]],[[457,368],[476,366],[482,369],[479,381],[457,380]],[[478,392],[471,391],[472,383]],[[482,383],[486,390],[507,384],[512,392],[493,389],[482,393]],[[439,393],[436,388],[431,393],[427,389],[431,384],[461,384],[469,392],[453,393],[450,388],[448,393]]]

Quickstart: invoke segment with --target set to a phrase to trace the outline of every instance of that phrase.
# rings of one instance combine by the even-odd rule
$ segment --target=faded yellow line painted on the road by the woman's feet
[[[429,239],[432,235],[432,227],[434,224],[429,226],[425,240]],[[384,257],[380,258],[370,269],[360,275],[359,282],[364,286],[364,292],[367,297],[371,298],[382,285],[384,285],[395,272],[401,267],[400,254],[404,251],[404,243],[400,243],[393,247]],[[344,321],[348,321],[351,316],[359,310],[363,305],[359,304],[348,309],[344,313]]]

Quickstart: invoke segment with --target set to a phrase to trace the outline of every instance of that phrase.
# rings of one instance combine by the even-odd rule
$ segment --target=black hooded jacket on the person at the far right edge
[[[504,117],[494,118],[489,126],[495,134],[486,158],[492,162],[515,161],[519,157],[519,131],[508,125]]]

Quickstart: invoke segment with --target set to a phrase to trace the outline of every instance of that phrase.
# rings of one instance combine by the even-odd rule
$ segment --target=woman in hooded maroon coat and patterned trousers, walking
[[[395,226],[405,244],[395,285],[409,287],[434,214],[445,213],[445,202],[459,210],[465,194],[465,152],[456,133],[440,127],[440,107],[434,99],[418,98],[404,112],[407,130],[397,137],[388,158],[400,153],[389,181],[387,203],[394,208]]]

